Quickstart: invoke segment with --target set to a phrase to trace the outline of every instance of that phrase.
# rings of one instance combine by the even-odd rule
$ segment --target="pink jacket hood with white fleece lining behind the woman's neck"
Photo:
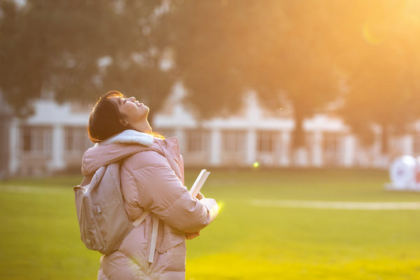
[[[151,134],[125,130],[87,149],[83,155],[82,174],[88,176],[96,172],[99,167],[143,151],[156,151],[165,155],[165,146],[167,146],[165,140],[153,137]]]

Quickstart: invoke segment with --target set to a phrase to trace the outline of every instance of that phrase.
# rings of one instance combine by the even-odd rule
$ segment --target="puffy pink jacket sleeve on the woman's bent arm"
[[[147,165],[132,169],[134,183],[139,188],[139,207],[151,210],[172,227],[188,232],[201,230],[216,218],[215,200],[191,197],[166,158],[158,153],[148,158]]]

